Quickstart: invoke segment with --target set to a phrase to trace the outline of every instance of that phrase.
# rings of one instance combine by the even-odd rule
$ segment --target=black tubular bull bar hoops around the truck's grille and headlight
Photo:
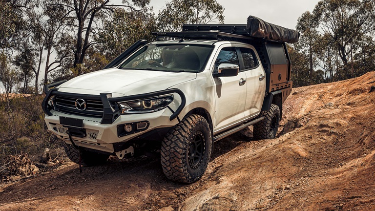
[[[174,111],[173,114],[169,117],[169,120],[172,121],[175,118],[177,118],[177,116],[181,113],[182,109],[184,109],[186,105],[185,94],[180,89],[177,89],[177,88],[149,92],[146,94],[117,97],[117,98],[112,98],[111,93],[100,93],[100,95],[87,95],[87,94],[59,92],[57,88],[54,88],[54,89],[50,89],[46,93],[46,96],[44,97],[43,102],[42,102],[42,109],[46,115],[52,116],[52,113],[50,112],[52,107],[48,105],[48,101],[52,96],[73,97],[73,98],[82,98],[82,99],[87,99],[87,100],[102,101],[104,110],[103,110],[103,118],[102,118],[101,124],[112,124],[120,116],[120,107],[118,106],[113,107],[111,103],[142,100],[142,99],[156,97],[159,95],[166,95],[166,94],[172,94],[172,93],[177,93],[181,97],[181,104],[178,106],[176,111]]]

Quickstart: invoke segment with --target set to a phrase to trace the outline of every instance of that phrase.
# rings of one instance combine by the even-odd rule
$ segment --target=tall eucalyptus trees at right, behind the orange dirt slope
[[[304,85],[318,83],[310,82],[316,68],[323,70],[326,82],[375,70],[374,0],[321,0],[298,19],[296,28],[301,39],[293,47],[310,57],[310,80]]]

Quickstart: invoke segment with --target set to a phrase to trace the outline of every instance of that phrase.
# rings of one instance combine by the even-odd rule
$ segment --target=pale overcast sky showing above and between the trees
[[[151,0],[155,15],[170,0]],[[319,0],[217,0],[224,7],[224,23],[246,24],[250,15],[264,21],[295,29],[297,19],[306,11],[312,11]],[[121,4],[122,0],[111,0],[113,4]],[[55,55],[53,55],[55,56]],[[44,65],[42,65],[44,70]],[[44,73],[41,73],[43,76]],[[3,86],[0,83],[0,92]]]

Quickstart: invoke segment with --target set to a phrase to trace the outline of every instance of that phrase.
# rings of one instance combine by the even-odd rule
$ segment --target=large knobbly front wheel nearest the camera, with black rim
[[[162,168],[168,179],[189,184],[202,177],[211,156],[209,128],[204,117],[189,114],[169,130],[161,149]]]

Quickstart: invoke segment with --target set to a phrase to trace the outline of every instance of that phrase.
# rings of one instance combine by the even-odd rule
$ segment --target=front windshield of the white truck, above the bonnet
[[[199,72],[205,68],[212,45],[151,44],[128,58],[120,69]]]

